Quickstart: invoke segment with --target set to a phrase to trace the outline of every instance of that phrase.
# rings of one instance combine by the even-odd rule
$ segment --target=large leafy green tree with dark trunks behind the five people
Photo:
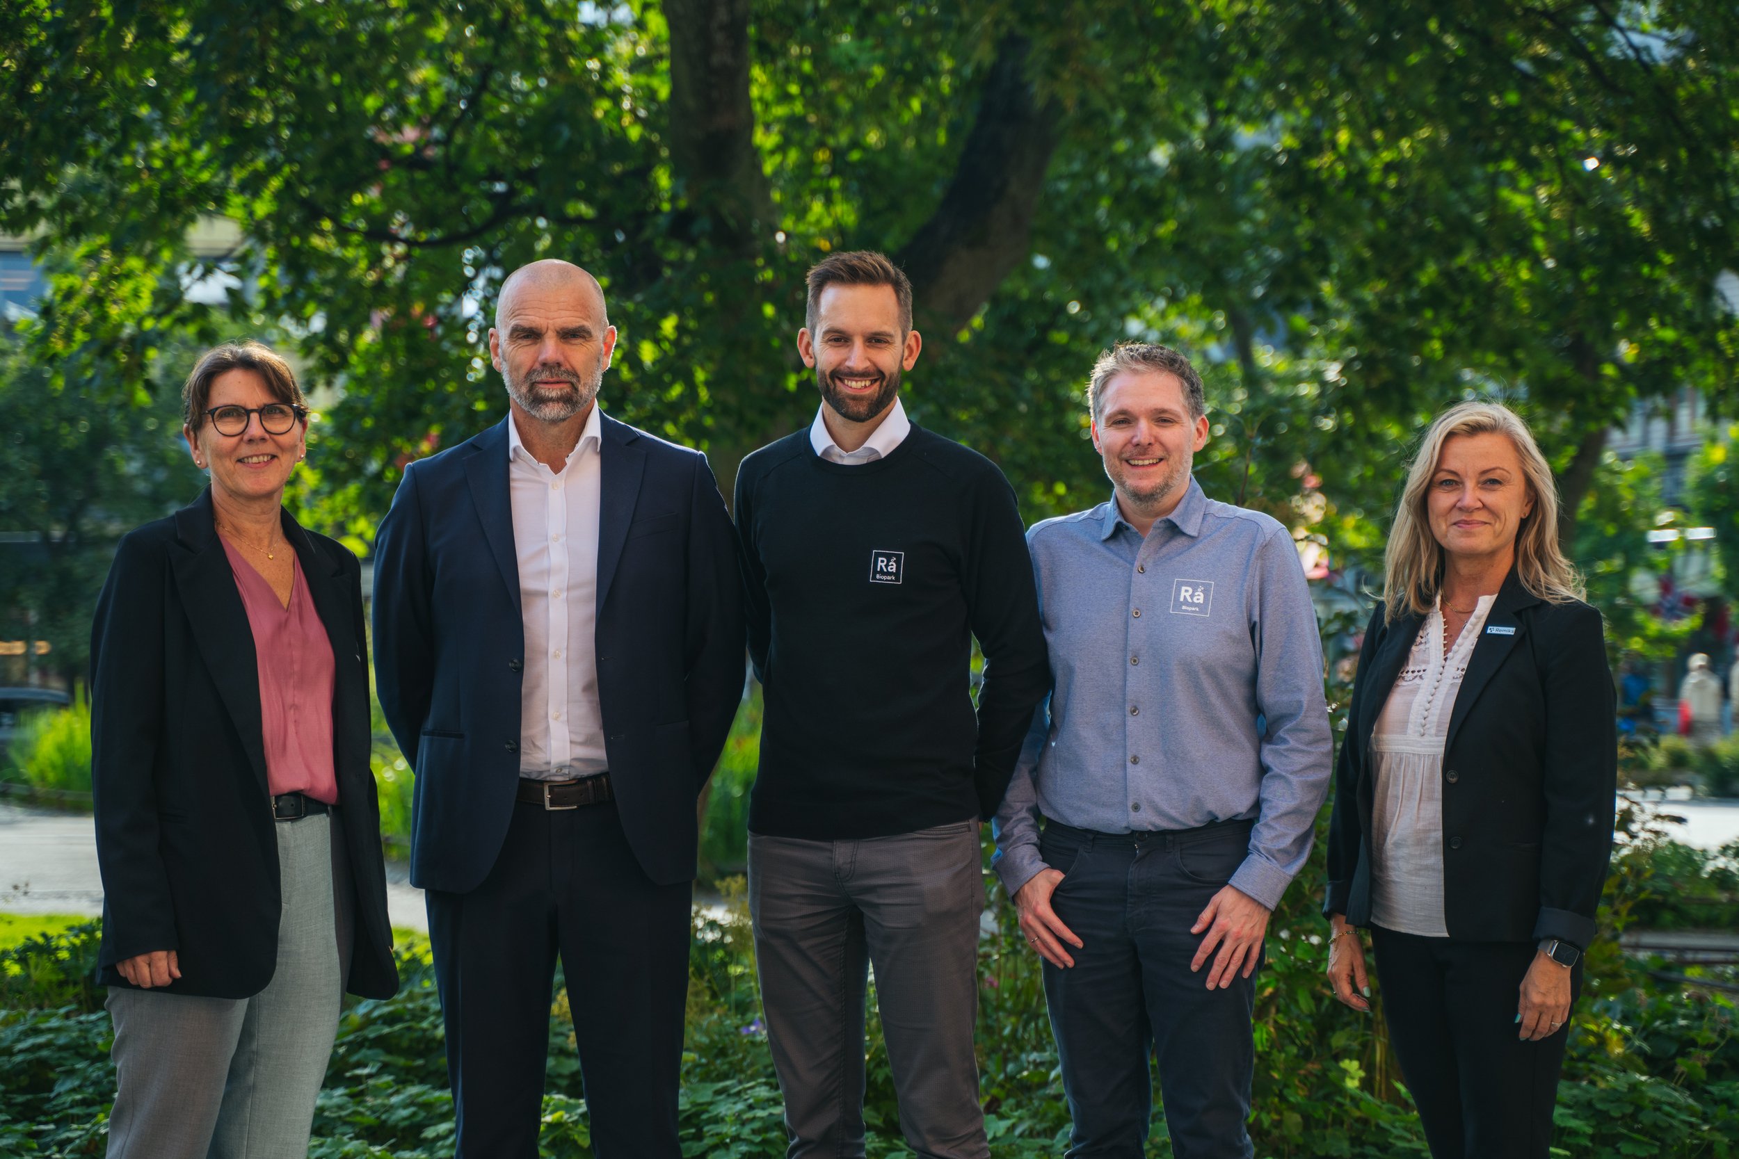
[[[1530,408],[1572,513],[1633,398],[1732,407],[1725,0],[0,0],[0,228],[87,269],[35,349],[125,377],[188,309],[179,238],[233,217],[242,323],[343,391],[320,493],[358,539],[499,414],[482,332],[541,255],[607,283],[609,405],[727,492],[814,407],[791,335],[838,247],[904,262],[915,415],[1033,514],[1103,492],[1076,393],[1125,334],[1209,356],[1217,492],[1343,520],[1468,389]]]

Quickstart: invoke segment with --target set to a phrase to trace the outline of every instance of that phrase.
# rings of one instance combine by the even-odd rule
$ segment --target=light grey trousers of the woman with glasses
[[[350,971],[350,872],[332,818],[277,824],[278,964],[254,997],[110,987],[110,1159],[306,1159]]]

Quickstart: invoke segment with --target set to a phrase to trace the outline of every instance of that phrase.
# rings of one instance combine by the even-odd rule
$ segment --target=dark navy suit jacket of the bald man
[[[374,539],[377,692],[416,772],[410,881],[476,888],[520,775],[525,631],[508,422],[405,469]],[[647,878],[694,878],[696,798],[743,700],[736,535],[706,457],[602,415],[598,700]]]

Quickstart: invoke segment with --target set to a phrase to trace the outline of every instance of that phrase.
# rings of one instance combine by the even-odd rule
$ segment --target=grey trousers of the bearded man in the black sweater
[[[923,1159],[988,1159],[979,1107],[972,822],[863,841],[750,834],[750,916],[788,1159],[864,1154],[864,1001],[876,1006],[899,1126]]]

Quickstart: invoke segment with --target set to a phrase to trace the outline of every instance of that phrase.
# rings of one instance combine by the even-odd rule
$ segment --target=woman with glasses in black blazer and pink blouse
[[[115,553],[92,627],[111,1157],[306,1156],[346,990],[398,989],[356,558],[303,530],[290,367],[183,389],[210,487]]]

